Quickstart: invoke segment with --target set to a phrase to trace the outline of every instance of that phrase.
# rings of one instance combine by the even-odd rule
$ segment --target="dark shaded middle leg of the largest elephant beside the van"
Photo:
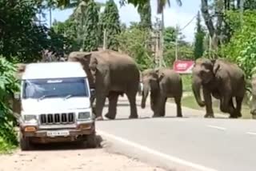
[[[110,92],[110,95],[109,95],[109,101],[110,101],[109,111],[108,111],[108,113],[105,114],[105,117],[107,117],[108,119],[115,119],[115,117],[116,117],[118,96],[119,96],[119,93]]]

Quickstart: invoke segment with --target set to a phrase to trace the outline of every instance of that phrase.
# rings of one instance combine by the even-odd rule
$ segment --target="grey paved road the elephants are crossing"
[[[177,118],[175,105],[166,105],[167,117],[149,118],[149,105],[140,119],[129,115],[126,98],[118,101],[118,120],[98,121],[98,133],[113,150],[176,170],[256,170],[256,122],[254,120],[203,118],[203,111],[183,109]],[[106,109],[104,109],[106,112]],[[186,166],[186,167],[183,167]]]

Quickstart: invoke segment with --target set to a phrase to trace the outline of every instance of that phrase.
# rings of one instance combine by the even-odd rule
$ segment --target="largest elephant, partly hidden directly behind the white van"
[[[105,117],[109,119],[116,117],[118,96],[123,93],[126,93],[130,102],[129,118],[138,118],[136,94],[139,70],[133,58],[114,50],[100,50],[83,52],[79,57],[71,53],[69,61],[81,62],[86,74],[93,80],[89,79],[89,82],[95,87],[95,114],[98,120],[102,120],[106,97],[109,98],[110,104]]]

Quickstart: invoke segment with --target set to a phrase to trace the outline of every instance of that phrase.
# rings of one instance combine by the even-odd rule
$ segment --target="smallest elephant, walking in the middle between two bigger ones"
[[[182,78],[178,73],[167,68],[144,70],[142,84],[142,109],[146,106],[146,97],[150,92],[150,107],[154,112],[153,117],[165,116],[168,97],[174,97],[177,117],[182,117]]]

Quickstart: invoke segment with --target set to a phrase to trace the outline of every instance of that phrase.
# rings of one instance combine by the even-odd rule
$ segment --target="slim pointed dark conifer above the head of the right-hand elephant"
[[[204,52],[205,32],[201,25],[200,12],[198,12],[196,28],[197,28],[197,31],[195,33],[195,40],[194,40],[194,59],[201,58]]]

